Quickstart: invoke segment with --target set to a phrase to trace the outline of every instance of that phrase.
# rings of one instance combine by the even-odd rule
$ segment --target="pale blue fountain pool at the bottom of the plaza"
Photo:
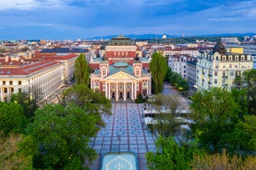
[[[108,152],[102,155],[100,170],[138,170],[137,154],[133,152]]]

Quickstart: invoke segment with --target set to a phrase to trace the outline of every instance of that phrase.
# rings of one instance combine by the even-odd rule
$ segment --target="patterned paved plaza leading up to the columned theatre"
[[[91,146],[96,150],[98,159],[91,170],[100,168],[100,157],[105,152],[133,151],[138,156],[140,170],[147,170],[145,154],[156,151],[156,137],[143,128],[143,105],[137,103],[112,103],[112,116],[103,117],[105,128],[92,139]]]

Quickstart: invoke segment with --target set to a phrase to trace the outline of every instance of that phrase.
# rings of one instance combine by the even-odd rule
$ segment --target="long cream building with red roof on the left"
[[[12,65],[11,62],[5,62]],[[0,100],[7,102],[17,92],[36,91],[46,99],[64,85],[64,67],[55,61],[26,62],[20,67],[0,68]]]

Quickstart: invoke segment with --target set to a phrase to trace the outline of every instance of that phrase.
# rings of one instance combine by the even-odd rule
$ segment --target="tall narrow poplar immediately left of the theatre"
[[[90,67],[86,62],[86,55],[81,53],[75,63],[75,80],[77,85],[89,87]]]

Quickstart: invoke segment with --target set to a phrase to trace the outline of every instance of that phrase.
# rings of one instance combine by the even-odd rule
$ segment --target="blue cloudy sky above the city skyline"
[[[256,0],[0,0],[0,39],[256,32]]]

